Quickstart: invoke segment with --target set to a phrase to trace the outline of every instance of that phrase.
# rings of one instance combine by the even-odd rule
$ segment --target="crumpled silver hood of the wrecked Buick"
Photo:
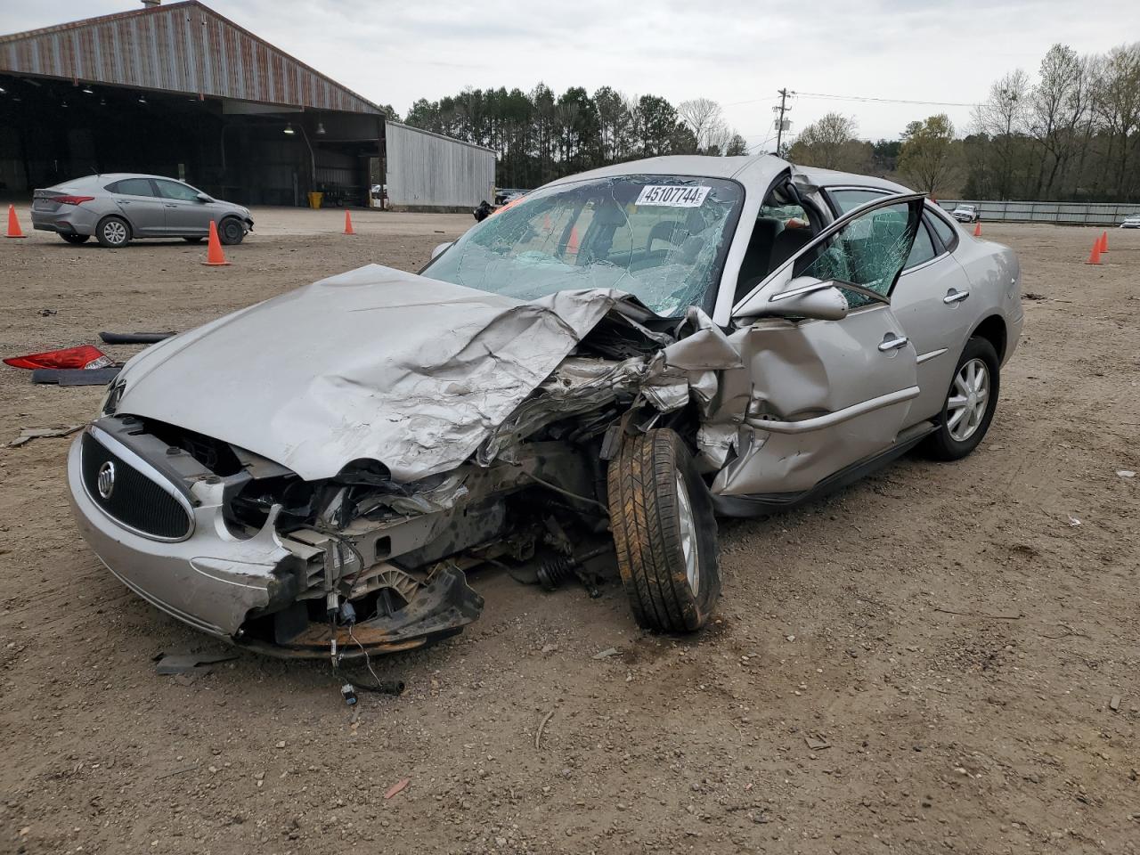
[[[414,481],[463,463],[627,300],[586,290],[527,302],[369,264],[147,349],[120,375],[119,413],[306,480],[370,458]]]

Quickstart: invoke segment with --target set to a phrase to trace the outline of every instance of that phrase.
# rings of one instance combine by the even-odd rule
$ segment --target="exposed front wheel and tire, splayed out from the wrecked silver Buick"
[[[628,438],[606,478],[621,584],[646,629],[700,629],[720,596],[712,500],[670,430]]]

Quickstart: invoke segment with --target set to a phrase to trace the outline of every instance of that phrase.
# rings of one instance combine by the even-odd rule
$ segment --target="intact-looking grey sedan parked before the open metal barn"
[[[253,228],[250,209],[161,176],[87,176],[38,189],[32,197],[32,226],[72,244],[92,235],[104,246],[125,246],[137,237],[194,243],[210,234],[211,221],[223,244],[242,243]]]

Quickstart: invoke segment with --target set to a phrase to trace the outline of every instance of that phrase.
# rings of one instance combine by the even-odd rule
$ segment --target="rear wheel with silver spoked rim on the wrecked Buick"
[[[931,457],[960,461],[978,447],[997,408],[1000,370],[997,351],[986,339],[976,336],[966,343],[942,405],[938,430],[926,441],[926,450]],[[975,386],[972,397],[963,392],[970,385]],[[977,393],[982,389],[985,390],[985,398],[978,400]]]

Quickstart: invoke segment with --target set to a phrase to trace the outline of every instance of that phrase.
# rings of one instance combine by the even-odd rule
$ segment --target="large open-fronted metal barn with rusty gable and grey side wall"
[[[0,35],[0,195],[98,172],[165,174],[243,204],[471,207],[494,154],[381,108],[198,0]]]

